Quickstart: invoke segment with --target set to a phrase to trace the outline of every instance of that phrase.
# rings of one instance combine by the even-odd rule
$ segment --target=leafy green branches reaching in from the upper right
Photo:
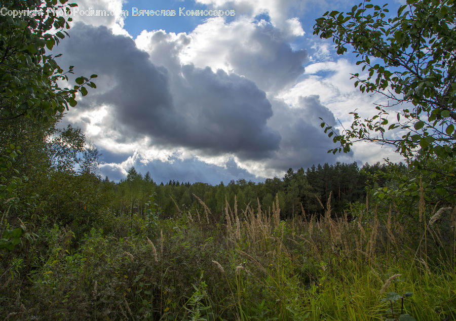
[[[390,15],[387,5],[367,0],[351,12],[326,12],[316,20],[314,34],[332,38],[337,54],[349,47],[362,70],[353,74],[361,92],[385,96],[372,118],[352,112],[354,122],[338,135],[322,123],[340,147],[348,152],[356,141],[391,144],[407,159],[428,154],[440,159],[456,156],[456,12],[453,0],[409,0]],[[394,108],[405,104],[399,112]],[[389,111],[392,109],[392,111]],[[394,119],[389,114],[394,113]],[[401,130],[402,138],[387,135]],[[449,173],[451,173],[450,171]]]

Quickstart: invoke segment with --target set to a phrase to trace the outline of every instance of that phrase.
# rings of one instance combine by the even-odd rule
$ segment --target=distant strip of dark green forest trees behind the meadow
[[[382,170],[385,165],[379,163],[365,164],[362,168],[357,163],[324,164],[307,170],[300,168],[296,172],[290,168],[283,178],[268,178],[259,183],[239,179],[212,186],[175,180],[156,183],[149,172],[141,175],[131,167],[125,180],[116,184],[105,178],[104,183],[110,185],[111,210],[119,214],[144,214],[151,195],[162,215],[166,216],[182,210],[201,211],[200,200],[211,213],[220,215],[226,200],[233,208],[235,196],[237,204],[243,208],[248,204],[256,208],[259,202],[261,208],[268,211],[277,196],[281,215],[287,218],[324,213],[323,204],[326,206],[330,195],[334,213],[343,214],[348,204],[364,202],[368,174]]]

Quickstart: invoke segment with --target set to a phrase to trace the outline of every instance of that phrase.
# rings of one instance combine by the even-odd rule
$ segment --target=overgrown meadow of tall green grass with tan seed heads
[[[278,197],[268,209],[226,200],[222,213],[198,200],[203,213],[179,210],[154,233],[141,217],[109,213],[110,232],[94,228],[78,245],[56,227],[33,270],[24,275],[16,262],[3,273],[2,316],[456,319],[454,207],[426,213],[420,204],[417,222],[406,222],[367,202],[336,215],[329,198],[322,217],[284,220]]]

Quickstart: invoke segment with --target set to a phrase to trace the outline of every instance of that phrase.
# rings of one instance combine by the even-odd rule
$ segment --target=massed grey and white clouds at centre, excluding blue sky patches
[[[273,16],[211,18],[188,34],[136,39],[75,24],[57,48],[60,64],[99,77],[68,118],[105,151],[102,175],[119,180],[135,166],[156,181],[216,184],[335,162],[318,119],[336,125],[335,117],[317,83],[302,81],[318,71],[306,74],[307,51],[290,45],[300,23]]]

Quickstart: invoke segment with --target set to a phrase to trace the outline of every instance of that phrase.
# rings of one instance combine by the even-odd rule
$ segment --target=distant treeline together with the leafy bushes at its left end
[[[204,211],[200,200],[213,218],[223,221],[226,200],[233,209],[235,197],[239,208],[245,209],[248,204],[257,208],[259,202],[266,212],[278,197],[285,219],[321,215],[330,195],[333,213],[343,215],[350,203],[365,202],[366,186],[375,187],[368,182],[369,174],[388,173],[391,167],[378,163],[362,168],[356,163],[324,164],[296,172],[289,169],[283,178],[259,183],[239,179],[215,186],[174,180],[159,183],[153,174],[142,175],[132,167],[126,179],[115,183],[98,175],[98,151],[86,144],[81,130],[71,126],[58,129],[60,117],[47,123],[14,119],[0,133],[2,146],[21,146],[8,160],[21,175],[13,170],[2,172],[5,195],[0,210],[8,213],[8,222],[20,217],[36,228],[57,224],[83,234],[94,222],[103,225],[103,213],[143,218],[150,212],[162,218],[178,211],[198,215]],[[406,172],[405,166],[402,168]],[[390,183],[378,176],[376,184]]]

